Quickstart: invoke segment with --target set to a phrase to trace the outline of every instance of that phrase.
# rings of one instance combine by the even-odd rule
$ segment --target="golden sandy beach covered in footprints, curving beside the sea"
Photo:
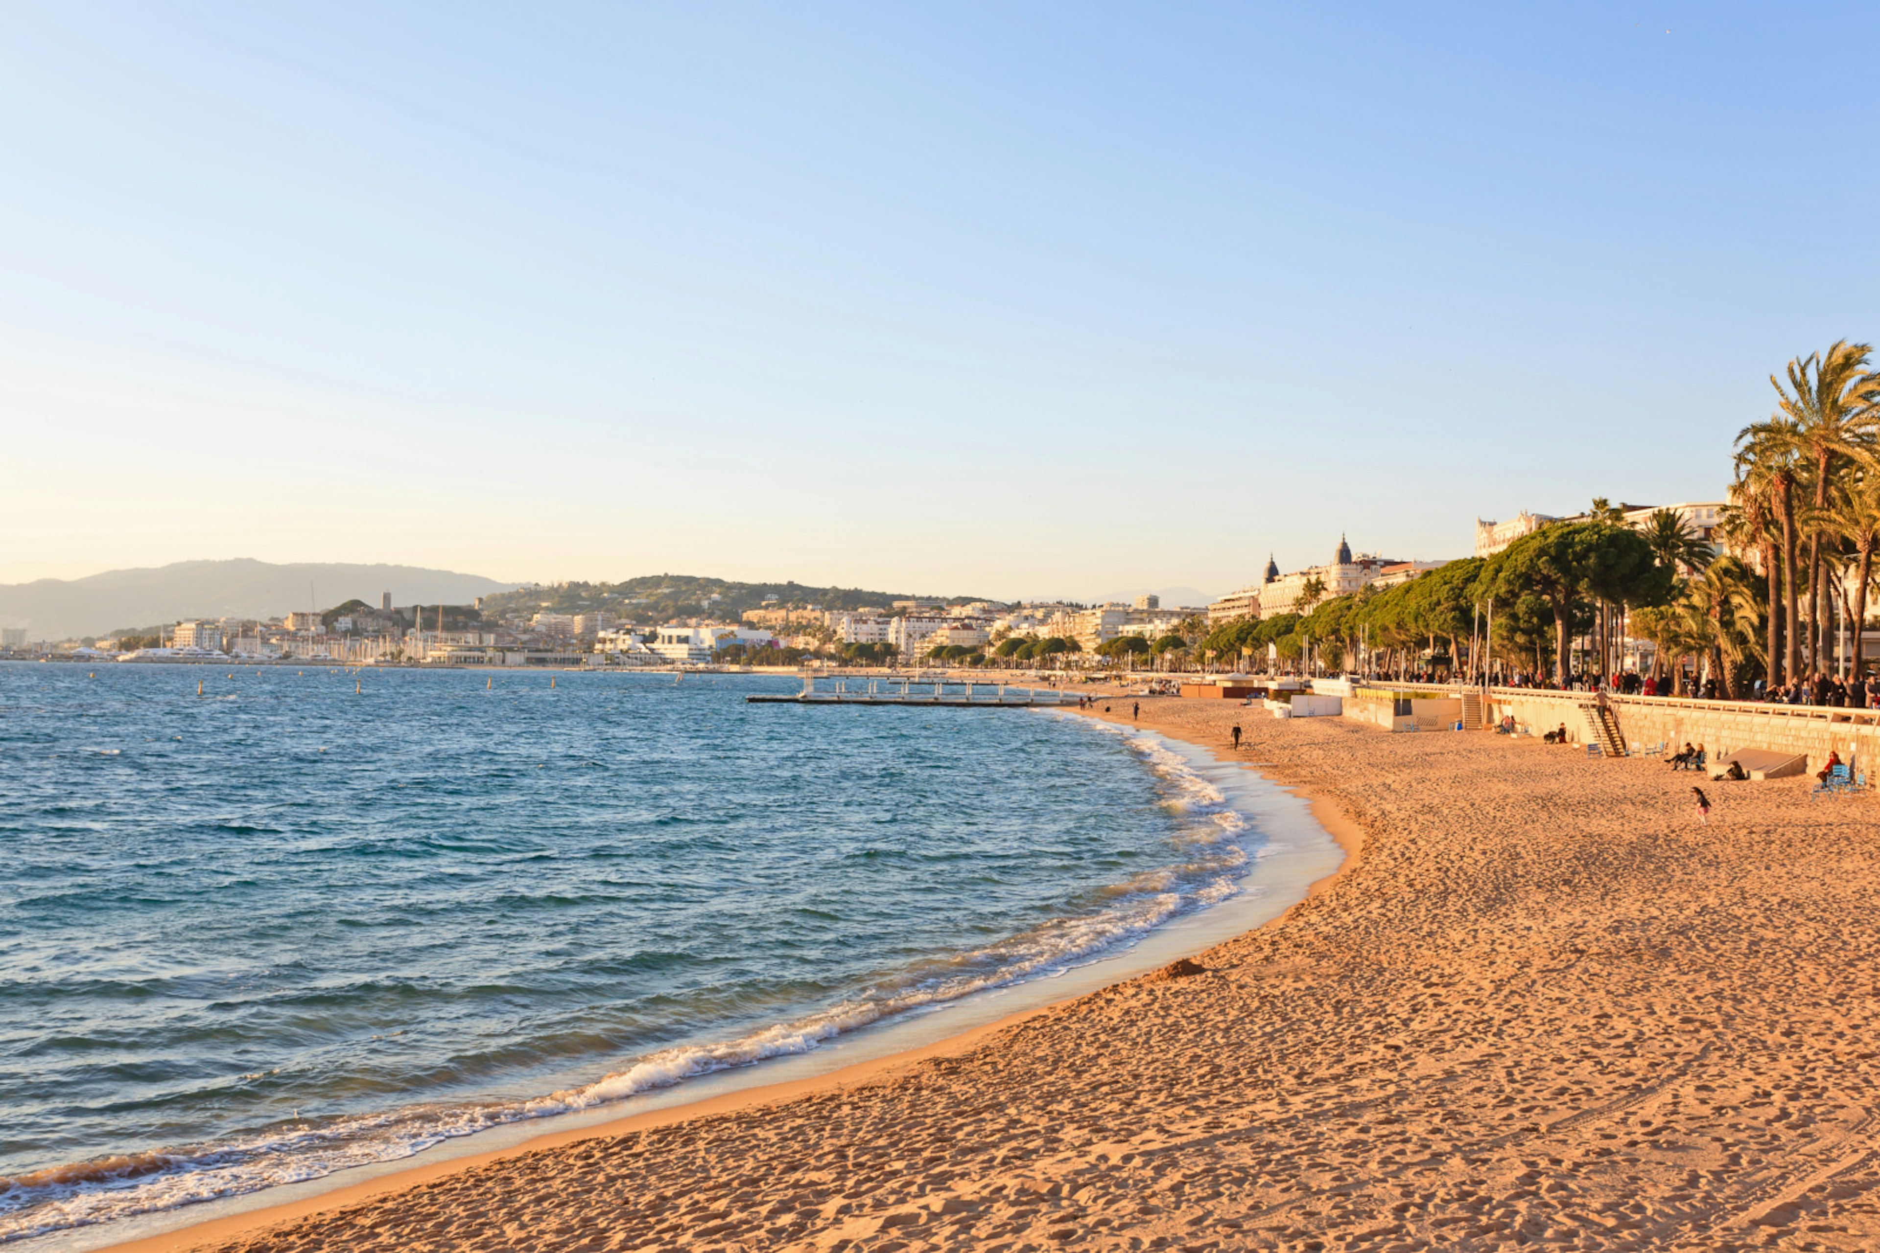
[[[143,1247],[1880,1244],[1871,798],[1707,783],[1700,827],[1653,761],[1141,706],[1361,855],[1177,977]]]

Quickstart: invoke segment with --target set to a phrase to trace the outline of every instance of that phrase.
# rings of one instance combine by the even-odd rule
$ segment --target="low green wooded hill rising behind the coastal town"
[[[863,588],[810,588],[801,582],[733,582],[699,575],[643,575],[624,582],[562,582],[521,588],[485,597],[485,618],[526,622],[538,612],[579,614],[605,611],[630,622],[669,618],[737,618],[746,609],[761,609],[775,596],[778,607],[818,605],[820,609],[887,609],[895,601],[932,599],[961,605],[974,596],[921,596],[912,592],[869,592]]]

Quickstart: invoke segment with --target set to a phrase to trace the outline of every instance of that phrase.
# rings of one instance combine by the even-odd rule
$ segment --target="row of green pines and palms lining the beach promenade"
[[[1207,659],[1290,669],[1632,686],[1626,641],[1679,695],[1867,704],[1861,646],[1880,549],[1880,372],[1837,342],[1771,376],[1775,413],[1737,436],[1720,545],[1660,509],[1594,500],[1493,558],[1226,624]]]

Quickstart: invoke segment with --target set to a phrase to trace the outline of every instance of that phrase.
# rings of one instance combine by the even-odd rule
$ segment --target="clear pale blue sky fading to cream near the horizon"
[[[1340,534],[1720,500],[1769,374],[1880,334],[1876,34],[8,4],[0,580],[1218,596]]]

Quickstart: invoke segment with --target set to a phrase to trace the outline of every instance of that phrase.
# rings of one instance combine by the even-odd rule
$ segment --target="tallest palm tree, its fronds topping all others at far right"
[[[1788,387],[1769,376],[1777,406],[1795,423],[1799,456],[1812,472],[1814,509],[1825,513],[1837,462],[1872,445],[1880,426],[1880,376],[1867,370],[1869,344],[1835,340],[1825,353],[1788,363]],[[1809,539],[1809,657],[1822,669],[1827,622],[1822,614],[1822,535]]]

